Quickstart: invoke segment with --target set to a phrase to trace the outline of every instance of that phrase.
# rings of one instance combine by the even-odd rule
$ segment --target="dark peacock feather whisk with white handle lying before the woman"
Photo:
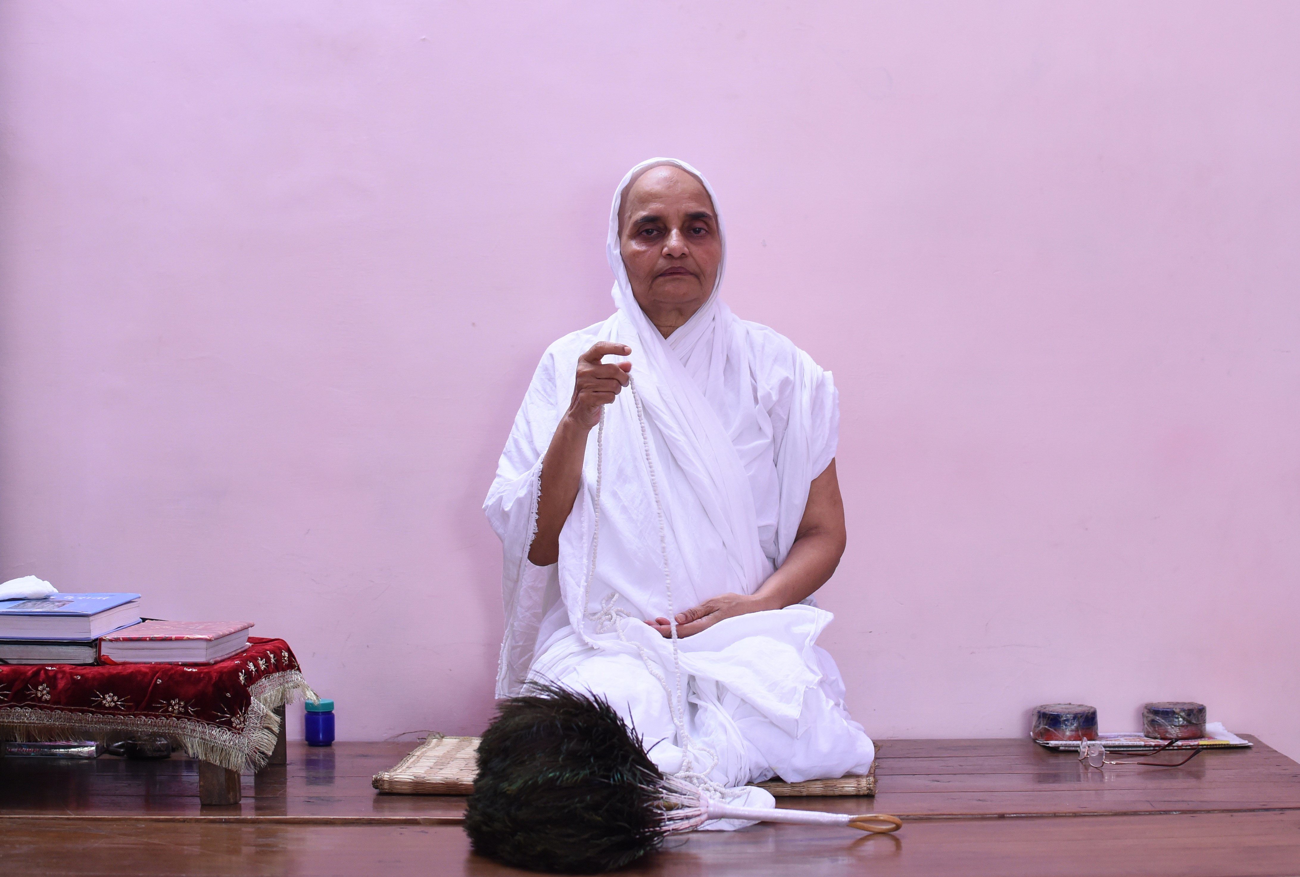
[[[598,696],[549,685],[503,702],[478,744],[478,773],[465,809],[474,852],[558,873],[623,868],[664,838],[708,820],[845,825],[893,832],[881,813],[849,816],[732,807],[664,776],[637,735]]]

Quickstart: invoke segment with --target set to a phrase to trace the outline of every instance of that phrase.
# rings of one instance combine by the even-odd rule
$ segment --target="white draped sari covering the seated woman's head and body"
[[[789,553],[809,485],[838,438],[831,374],[783,335],[734,317],[718,295],[722,268],[707,303],[667,339],[637,305],[619,248],[619,200],[632,175],[653,164],[699,177],[655,159],[619,184],[607,246],[618,311],[547,348],[484,505],[504,546],[497,694],[517,694],[530,677],[593,691],[636,728],[660,769],[685,768],[722,786],[864,773],[875,751],[845,711],[835,661],[816,646],[832,616],[811,599],[681,638],[676,660],[672,642],[641,622],[719,594],[757,591]],[[559,561],[534,566],[528,551],[542,459],[568,408],[578,356],[598,340],[632,348],[650,461],[625,390],[606,407],[598,551],[586,582],[598,430],[588,438]],[[685,708],[675,717],[679,680]],[[771,803],[759,790],[749,799]]]

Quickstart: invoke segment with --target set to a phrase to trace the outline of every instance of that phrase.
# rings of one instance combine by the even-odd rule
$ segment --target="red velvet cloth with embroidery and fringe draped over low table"
[[[191,755],[256,767],[274,746],[270,709],[298,690],[309,693],[289,643],[263,637],[207,665],[8,664],[0,665],[0,737],[156,733]]]

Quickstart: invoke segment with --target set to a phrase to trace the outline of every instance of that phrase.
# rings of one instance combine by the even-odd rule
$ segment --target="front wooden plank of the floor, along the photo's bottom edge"
[[[473,856],[456,828],[69,822],[0,819],[13,873],[517,874]],[[94,850],[87,856],[86,850]],[[200,855],[202,852],[202,855]],[[907,824],[897,835],[755,826],[696,833],[625,873],[685,877],[1282,877],[1300,863],[1300,813],[1001,819]]]

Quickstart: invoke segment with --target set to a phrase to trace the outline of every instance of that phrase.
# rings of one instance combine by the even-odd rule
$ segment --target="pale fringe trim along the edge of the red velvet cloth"
[[[248,712],[240,733],[212,722],[177,716],[110,716],[66,709],[32,707],[0,707],[0,739],[60,741],[88,738],[109,742],[110,737],[127,734],[161,734],[187,755],[209,764],[256,773],[265,767],[280,738],[278,707],[294,703],[302,693],[318,699],[299,670],[270,673],[248,686]]]

